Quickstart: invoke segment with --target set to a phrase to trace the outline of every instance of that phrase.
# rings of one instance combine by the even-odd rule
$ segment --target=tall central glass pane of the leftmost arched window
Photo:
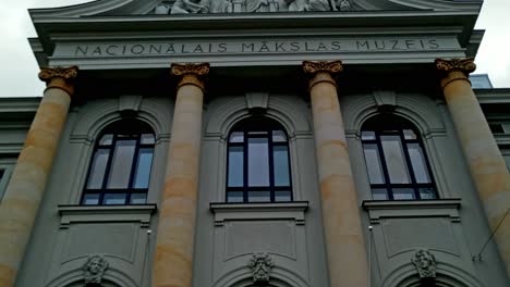
[[[117,141],[108,188],[129,188],[135,146],[135,140]]]

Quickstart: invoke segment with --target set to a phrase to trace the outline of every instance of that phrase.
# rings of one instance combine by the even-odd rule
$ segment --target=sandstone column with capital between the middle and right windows
[[[311,76],[315,152],[331,287],[368,285],[368,264],[337,84],[340,61],[303,62]]]

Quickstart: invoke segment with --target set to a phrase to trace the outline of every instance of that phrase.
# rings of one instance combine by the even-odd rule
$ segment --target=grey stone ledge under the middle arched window
[[[223,226],[224,221],[251,220],[294,220],[296,225],[304,225],[304,213],[308,201],[294,202],[256,202],[256,203],[209,203],[215,214],[215,225]]]

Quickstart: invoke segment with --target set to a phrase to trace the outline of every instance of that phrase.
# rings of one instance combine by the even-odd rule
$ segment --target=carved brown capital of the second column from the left
[[[209,74],[209,63],[172,63],[170,74],[182,77],[178,84],[178,89],[184,85],[194,85],[204,91],[203,77]]]

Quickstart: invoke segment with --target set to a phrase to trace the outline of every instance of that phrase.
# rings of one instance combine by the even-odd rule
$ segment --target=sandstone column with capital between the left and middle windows
[[[181,77],[161,195],[153,286],[191,287],[204,100],[209,64],[172,64]]]

